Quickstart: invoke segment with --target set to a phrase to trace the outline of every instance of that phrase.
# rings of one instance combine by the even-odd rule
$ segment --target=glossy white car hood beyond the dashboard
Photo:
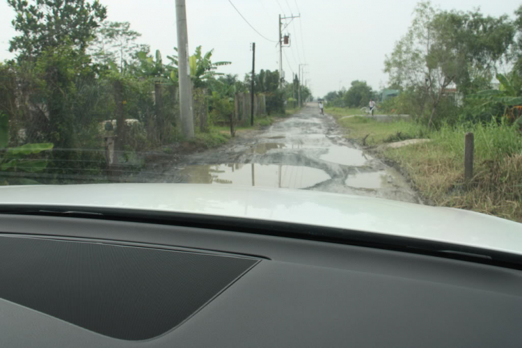
[[[317,191],[207,184],[0,187],[0,205],[116,207],[303,223],[522,255],[522,223],[444,207]]]

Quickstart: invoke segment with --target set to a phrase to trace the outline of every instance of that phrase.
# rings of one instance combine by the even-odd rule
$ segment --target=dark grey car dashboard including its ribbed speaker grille
[[[0,215],[0,347],[520,347],[520,313],[519,269],[186,223]]]

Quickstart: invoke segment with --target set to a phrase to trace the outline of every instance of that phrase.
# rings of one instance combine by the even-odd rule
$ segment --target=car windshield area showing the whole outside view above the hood
[[[519,1],[0,0],[0,25],[0,186],[299,189],[522,222]]]

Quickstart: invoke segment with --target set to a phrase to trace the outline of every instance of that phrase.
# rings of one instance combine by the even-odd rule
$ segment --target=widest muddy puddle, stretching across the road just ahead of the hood
[[[235,184],[284,189],[306,189],[330,180],[330,175],[320,169],[277,164],[188,166],[180,174],[187,177],[189,184]]]

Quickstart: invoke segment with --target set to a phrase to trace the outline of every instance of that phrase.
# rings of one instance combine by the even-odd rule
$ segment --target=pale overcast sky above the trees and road
[[[214,61],[231,61],[220,68],[239,74],[251,70],[251,42],[256,42],[256,70],[278,69],[278,15],[299,15],[285,29],[292,47],[285,48],[283,70],[287,80],[298,65],[307,63],[306,79],[316,96],[324,96],[351,81],[365,80],[373,88],[386,84],[383,61],[395,41],[406,32],[417,0],[231,0],[265,40],[251,29],[228,0],[187,0],[189,49],[215,49]],[[130,22],[143,34],[141,43],[164,56],[177,46],[174,0],[101,0],[108,20]],[[443,9],[472,10],[488,15],[512,15],[520,0],[435,0]],[[9,40],[15,35],[14,12],[0,0],[0,60],[11,58]],[[301,34],[302,33],[302,34]],[[286,57],[286,58],[285,58]]]

